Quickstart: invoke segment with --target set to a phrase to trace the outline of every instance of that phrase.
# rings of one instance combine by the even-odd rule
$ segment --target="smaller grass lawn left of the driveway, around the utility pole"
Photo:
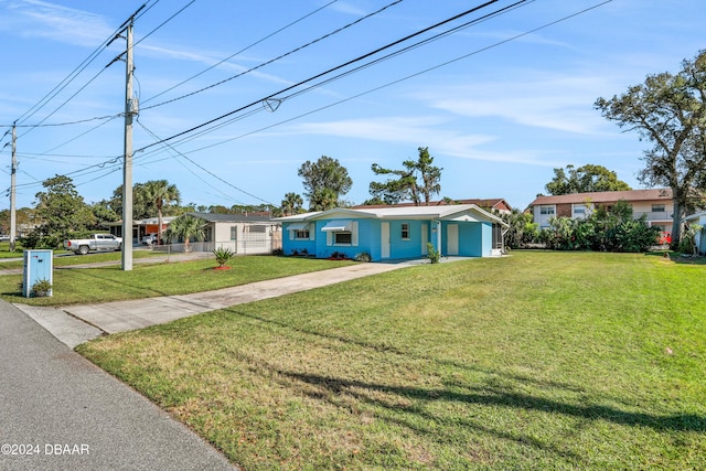
[[[153,253],[136,251],[135,255],[137,254],[145,254],[143,256],[149,257]],[[77,263],[111,260],[116,256],[119,260],[119,253],[110,253],[85,257],[61,257],[55,258],[54,263],[55,266],[67,267]],[[215,258],[196,261],[136,264],[131,271],[122,271],[119,265],[66,268],[54,270],[54,296],[51,298],[23,298],[20,288],[21,275],[0,276],[0,297],[8,302],[33,306],[108,302],[207,291],[308,271],[325,270],[345,264],[352,263],[295,257],[244,256],[231,259],[228,263],[228,266],[232,267],[231,270],[214,270],[213,268],[217,266]],[[6,265],[0,265],[0,268],[4,268]]]

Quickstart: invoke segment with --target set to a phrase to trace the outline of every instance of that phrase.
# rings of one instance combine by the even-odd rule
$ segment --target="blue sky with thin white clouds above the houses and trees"
[[[143,3],[0,0],[0,125],[20,125],[18,206],[33,205],[41,182],[55,174],[72,176],[87,202],[122,184],[125,64],[106,65],[125,41],[103,45]],[[344,197],[362,203],[373,163],[399,168],[428,147],[443,168],[440,196],[451,199],[504,197],[522,210],[554,168],[586,163],[641,188],[635,174],[648,144],[605,120],[593,103],[648,74],[677,72],[706,47],[702,0],[536,0],[321,83],[513,3],[496,1],[279,93],[481,4],[404,0],[361,20],[391,3],[147,1],[135,22],[133,182],[167,179],[183,203],[279,205],[285,193],[303,192],[299,167],[329,156],[353,179]],[[269,103],[274,111],[261,101],[271,95],[280,99]],[[205,132],[156,143],[226,114],[199,129]],[[6,135],[2,190],[10,186],[8,142]]]

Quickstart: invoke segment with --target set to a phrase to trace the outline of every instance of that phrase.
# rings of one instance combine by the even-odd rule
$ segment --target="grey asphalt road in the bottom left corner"
[[[0,470],[235,469],[1,300],[0,362]]]

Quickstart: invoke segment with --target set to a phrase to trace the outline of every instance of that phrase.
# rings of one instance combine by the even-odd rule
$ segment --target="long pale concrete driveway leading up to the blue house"
[[[193,295],[164,296],[62,308],[33,307],[21,303],[15,303],[14,306],[50,331],[61,342],[74,349],[76,345],[103,334],[143,329],[202,312],[320,288],[418,263],[420,261],[350,265]]]

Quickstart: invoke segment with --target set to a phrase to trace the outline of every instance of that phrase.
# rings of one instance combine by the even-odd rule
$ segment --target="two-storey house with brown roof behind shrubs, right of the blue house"
[[[539,228],[546,228],[549,227],[552,216],[582,220],[588,217],[596,207],[602,206],[610,210],[620,200],[632,205],[632,214],[635,220],[645,216],[649,226],[659,227],[663,232],[672,231],[674,204],[670,189],[537,196],[535,201],[530,203],[530,208],[534,222],[539,224]]]

